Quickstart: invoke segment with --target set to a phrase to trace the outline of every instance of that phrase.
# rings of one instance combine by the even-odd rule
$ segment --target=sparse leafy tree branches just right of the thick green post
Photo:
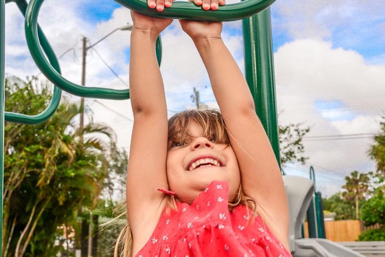
[[[279,147],[282,165],[288,162],[299,162],[305,164],[308,157],[304,156],[305,147],[303,137],[309,133],[310,128],[301,128],[300,123],[278,127]]]

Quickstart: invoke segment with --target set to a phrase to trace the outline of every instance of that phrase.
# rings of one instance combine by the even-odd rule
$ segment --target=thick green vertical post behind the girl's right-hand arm
[[[266,130],[279,167],[281,167],[271,23],[270,7],[243,20],[245,71],[246,80],[254,99],[255,111]]]

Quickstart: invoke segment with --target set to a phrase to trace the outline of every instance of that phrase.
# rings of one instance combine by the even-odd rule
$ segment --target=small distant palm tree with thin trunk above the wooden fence
[[[352,202],[356,208],[356,219],[360,218],[359,203],[365,196],[369,194],[370,173],[359,173],[353,171],[350,176],[345,176],[345,184],[342,186],[342,198]]]

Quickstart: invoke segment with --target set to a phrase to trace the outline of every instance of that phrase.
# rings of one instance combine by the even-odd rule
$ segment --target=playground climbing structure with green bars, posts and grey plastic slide
[[[3,150],[4,137],[4,9],[5,3],[15,2],[25,14],[25,35],[33,60],[42,73],[55,85],[55,99],[44,113],[28,117],[21,114],[6,113],[5,120],[25,124],[36,124],[47,120],[57,108],[60,101],[59,87],[71,94],[91,97],[123,100],[130,97],[129,90],[114,90],[101,87],[83,87],[76,85],[60,74],[60,66],[54,52],[46,41],[37,19],[44,0],[0,0],[0,103],[1,132],[0,150]],[[200,6],[191,2],[175,2],[171,8],[162,13],[147,8],[146,0],[115,0],[132,10],[150,16],[161,16],[173,19],[189,19],[200,21],[236,21],[243,20],[245,44],[246,80],[249,84],[256,112],[267,132],[276,159],[280,165],[278,126],[275,105],[274,69],[272,55],[272,29],[269,6],[275,0],[244,0],[240,3],[219,7],[216,11],[203,11]],[[247,18],[247,19],[246,19]],[[160,45],[160,41],[159,44]],[[47,56],[48,60],[46,59]],[[159,54],[160,56],[160,54]],[[159,57],[158,56],[158,57]],[[159,60],[159,59],[158,59]],[[43,115],[44,114],[44,115]],[[3,155],[0,154],[0,174],[2,193]],[[283,172],[283,171],[282,171]],[[305,211],[310,203],[314,187],[311,180],[299,177],[284,176],[285,187],[289,198],[291,215],[290,248],[294,257],[362,257],[338,244],[324,239],[301,239],[301,225]],[[2,195],[0,197],[0,221],[2,223]],[[0,228],[0,237],[2,230]],[[1,252],[1,245],[0,245]]]

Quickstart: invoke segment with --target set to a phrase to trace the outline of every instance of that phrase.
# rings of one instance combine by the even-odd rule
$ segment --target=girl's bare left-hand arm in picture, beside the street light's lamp
[[[127,173],[127,214],[134,236],[134,254],[151,236],[163,194],[166,177],[167,108],[163,81],[155,53],[159,33],[171,20],[132,13],[130,93],[134,112]],[[148,239],[148,238],[147,238]]]

